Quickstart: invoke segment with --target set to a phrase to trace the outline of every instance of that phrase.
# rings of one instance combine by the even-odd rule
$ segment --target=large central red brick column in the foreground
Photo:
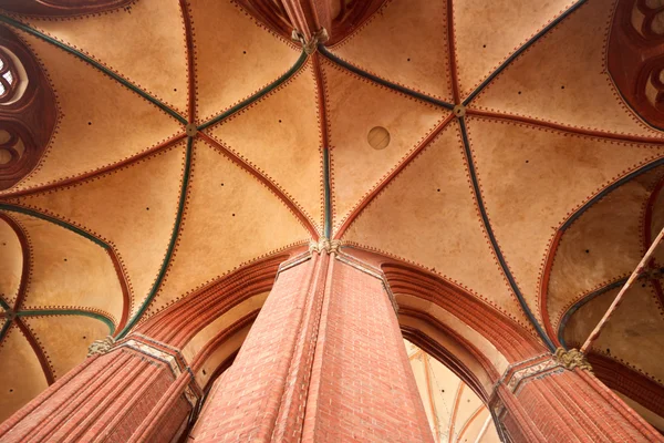
[[[284,264],[189,439],[432,442],[382,274],[326,241]]]

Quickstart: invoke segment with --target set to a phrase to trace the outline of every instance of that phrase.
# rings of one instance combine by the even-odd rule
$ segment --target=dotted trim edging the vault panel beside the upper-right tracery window
[[[573,2],[572,4],[575,4],[575,2]],[[583,7],[587,7],[588,2],[582,4],[579,10],[581,10]],[[564,11],[562,11],[564,12]],[[578,11],[574,11],[578,12]],[[552,35],[554,35],[557,32],[561,32],[561,27],[568,22],[569,20],[571,20],[572,17],[574,17],[575,13],[571,13],[570,16],[566,17],[561,23],[559,23],[559,25],[552,28],[551,30],[549,30],[546,34],[543,34],[538,41],[536,41],[533,44],[531,44],[529,48],[527,48],[522,53],[520,53],[508,66],[505,68],[505,70],[502,70],[498,75],[496,75],[496,78],[494,78],[491,80],[491,82],[489,82],[487,85],[485,85],[485,87],[483,89],[483,91],[475,97],[474,101],[479,101],[483,96],[485,96],[488,91],[491,89],[492,85],[496,84],[496,82],[498,81],[498,79],[504,78],[505,75],[507,75],[507,73],[513,69],[515,63],[519,60],[522,60],[525,56],[527,56],[527,54],[529,52],[535,51],[535,49],[541,44],[542,41],[546,41],[547,39],[552,38]],[[550,20],[549,23],[551,23],[551,21],[553,21],[554,19]],[[549,24],[547,23],[547,24]],[[609,35],[609,31],[610,31],[610,24],[611,22],[608,22],[605,29],[604,29],[604,43],[602,45],[602,50],[605,53],[606,51],[606,42],[608,42],[608,35]],[[533,34],[535,35],[535,34]],[[531,37],[533,37],[531,35]],[[518,50],[518,48],[517,48]],[[509,56],[508,56],[509,58]],[[505,62],[508,58],[506,58],[502,62]],[[495,66],[498,68],[498,66]],[[494,69],[495,71],[495,69]],[[609,87],[611,87],[612,90],[612,94],[616,101],[616,103],[620,105],[620,107],[623,110],[623,112],[642,130],[646,130],[649,132],[653,132],[654,130],[649,126],[647,124],[645,124],[641,117],[639,117],[637,115],[634,114],[634,112],[625,104],[624,100],[622,99],[622,96],[620,95],[620,93],[618,92],[618,90],[614,87],[613,82],[611,80],[611,75],[609,75],[608,69],[606,69],[606,59],[605,56],[602,60],[602,69],[601,72],[604,76],[604,80],[606,81],[606,83],[609,84]],[[487,76],[488,78],[488,76]],[[487,79],[485,78],[485,80]],[[484,80],[483,80],[484,81]],[[481,83],[481,82],[480,82]],[[480,84],[478,83],[477,86]],[[500,112],[499,110],[492,109],[492,107],[488,107],[488,106],[476,106],[478,110],[486,110],[486,111],[491,111],[491,112]],[[547,119],[538,119],[536,116],[532,115],[526,115],[526,114],[521,114],[521,113],[511,113],[512,115],[516,116],[521,116],[521,117],[527,117],[527,119],[532,119],[532,120],[539,120],[543,123],[553,123],[553,124],[560,124],[560,125],[566,125],[566,126],[570,126],[573,128],[579,128],[579,130],[588,130],[588,131],[601,131],[601,132],[606,132],[603,128],[600,127],[590,127],[590,126],[580,126],[580,125],[573,125],[573,124],[569,124],[569,123],[564,123],[564,122],[558,122],[554,120],[547,120]],[[633,136],[639,136],[640,134],[633,133],[633,132],[618,132],[618,134],[620,135],[633,135]],[[661,135],[662,137],[664,137],[664,134]]]

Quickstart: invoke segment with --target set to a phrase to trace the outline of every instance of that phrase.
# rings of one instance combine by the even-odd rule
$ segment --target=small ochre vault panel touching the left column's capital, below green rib
[[[84,316],[24,317],[49,359],[55,380],[85,360],[87,347],[111,331],[103,321]]]

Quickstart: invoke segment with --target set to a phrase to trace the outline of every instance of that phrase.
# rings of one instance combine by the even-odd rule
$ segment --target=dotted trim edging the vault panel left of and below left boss
[[[107,177],[110,175],[113,175],[113,174],[122,173],[122,172],[124,172],[124,171],[126,171],[126,169],[128,169],[128,168],[131,168],[133,166],[141,165],[141,164],[149,161],[153,157],[164,155],[167,152],[170,152],[170,151],[176,150],[178,147],[181,148],[183,146],[184,146],[184,142],[179,142],[177,144],[168,146],[167,148],[165,148],[163,151],[154,153],[154,154],[152,154],[152,155],[149,155],[147,157],[139,158],[138,161],[136,161],[134,163],[131,163],[128,165],[125,165],[123,167],[115,168],[115,169],[108,171],[108,172],[106,172],[104,174],[101,174],[101,175],[97,175],[97,176],[94,176],[94,177],[90,177],[90,178],[86,178],[84,181],[76,182],[74,184],[66,185],[66,186],[63,186],[63,187],[60,187],[60,188],[49,189],[49,190],[45,190],[45,192],[43,192],[41,194],[42,195],[50,195],[50,194],[55,194],[55,193],[59,193],[59,192],[69,190],[69,189],[76,188],[76,187],[81,187],[81,186],[83,186],[83,185],[85,185],[87,183],[100,181],[100,179],[105,178],[105,177]],[[184,166],[185,166],[184,165],[184,156],[183,156],[183,163],[181,164],[183,164],[183,166],[181,166],[181,172],[180,172],[180,181],[181,181],[181,177],[184,177]],[[74,219],[70,219],[69,217],[64,217],[63,215],[54,213],[54,212],[52,212],[52,210],[50,210],[48,208],[42,208],[42,207],[40,207],[38,205],[32,205],[32,204],[25,202],[28,198],[29,197],[19,197],[17,199],[11,200],[11,202],[13,204],[19,205],[19,206],[22,206],[22,207],[25,207],[25,208],[31,208],[31,209],[34,209],[34,210],[39,210],[39,212],[41,212],[41,213],[43,213],[45,215],[49,215],[49,216],[51,216],[53,218],[66,222],[68,224],[73,225],[73,226],[75,226],[75,227],[77,227],[77,228],[80,228],[80,229],[89,233],[90,235],[92,235],[92,236],[101,239],[102,241],[104,241],[105,244],[107,244],[113,249],[113,253],[117,257],[117,261],[120,262],[120,267],[122,269],[122,274],[123,274],[122,277],[124,277],[125,280],[126,280],[126,286],[127,286],[127,290],[129,292],[129,302],[131,302],[128,309],[129,309],[129,312],[133,313],[134,308],[135,308],[135,306],[136,306],[136,303],[138,301],[137,300],[138,296],[135,293],[134,286],[132,285],[132,280],[131,280],[129,275],[128,275],[127,266],[126,266],[126,264],[125,264],[125,261],[124,261],[124,259],[122,257],[122,254],[120,254],[118,248],[115,245],[115,243],[113,240],[111,240],[110,238],[107,238],[106,236],[104,236],[104,235],[102,235],[102,234],[100,234],[100,233],[97,233],[97,231],[95,231],[93,229],[90,229],[85,225],[83,225],[83,224],[81,224],[81,223],[79,223],[79,222],[76,222]],[[177,212],[177,209],[176,209],[176,212]],[[174,217],[173,217],[174,220],[176,218],[176,215],[174,215]],[[175,222],[174,222],[173,227],[175,228]],[[164,256],[162,257],[162,261],[165,260],[165,259],[166,259],[166,251],[164,251]],[[121,277],[121,276],[118,276],[118,277]],[[155,275],[155,277],[154,277],[154,279],[152,281],[152,285],[154,285],[156,282],[156,279],[157,279],[157,276]]]

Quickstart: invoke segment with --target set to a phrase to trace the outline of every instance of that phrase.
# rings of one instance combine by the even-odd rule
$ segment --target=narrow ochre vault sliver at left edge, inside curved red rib
[[[8,215],[0,213],[0,297],[13,306],[23,274],[23,248],[17,233],[3,217]]]

